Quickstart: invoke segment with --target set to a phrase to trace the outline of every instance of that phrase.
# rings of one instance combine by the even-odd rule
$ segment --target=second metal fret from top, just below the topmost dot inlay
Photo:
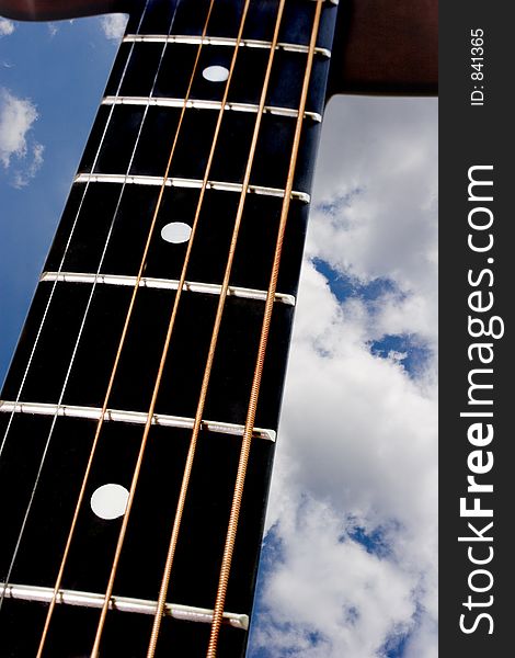
[[[158,107],[183,107],[184,99],[167,99],[158,97],[105,97],[102,101],[103,105],[141,105],[141,106],[158,106]],[[220,101],[203,101],[203,100],[191,100],[186,101],[186,107],[193,110],[220,110]],[[256,114],[259,112],[259,105],[251,103],[226,103],[224,110],[232,112],[250,112]],[[297,118],[298,110],[290,107],[276,107],[273,105],[265,105],[263,110],[264,114],[274,114],[276,116],[288,116]],[[305,118],[310,118],[317,123],[321,123],[322,115],[318,112],[305,112]]]

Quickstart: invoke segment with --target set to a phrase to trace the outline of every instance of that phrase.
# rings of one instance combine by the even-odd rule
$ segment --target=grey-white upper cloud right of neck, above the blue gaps
[[[319,201],[350,201],[332,217],[312,214],[308,250],[362,282],[394,281],[402,295],[384,299],[376,330],[392,325],[436,348],[436,103],[389,99],[378,107],[333,101],[316,190]]]

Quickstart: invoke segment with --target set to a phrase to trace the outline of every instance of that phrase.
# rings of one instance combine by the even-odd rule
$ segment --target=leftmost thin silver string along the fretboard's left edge
[[[139,33],[139,30],[141,29],[141,24],[142,24],[142,21],[144,21],[144,18],[145,18],[145,13],[146,13],[146,11],[147,11],[147,8],[148,8],[148,4],[149,4],[149,2],[151,2],[151,0],[146,0],[146,2],[145,2],[145,7],[144,7],[144,9],[142,9],[142,11],[141,11],[141,16],[140,16],[140,19],[139,19],[138,26],[136,27],[136,33],[137,33],[137,34]],[[118,86],[117,86],[117,88],[116,88],[116,91],[115,91],[115,98],[118,98],[118,97],[119,97],[119,92],[121,92],[121,89],[122,89],[122,84],[124,83],[124,80],[125,80],[125,73],[127,72],[128,64],[129,64],[129,61],[130,61],[130,57],[131,57],[131,55],[133,55],[133,52],[134,52],[134,48],[135,48],[135,46],[136,46],[136,43],[135,43],[135,42],[133,42],[133,43],[130,44],[129,54],[128,54],[127,60],[126,60],[126,63],[125,63],[125,65],[124,65],[124,68],[123,68],[123,70],[122,70],[122,76],[121,76],[121,79],[119,79]],[[106,133],[107,133],[107,129],[108,129],[108,127],[110,127],[110,124],[111,124],[111,118],[112,118],[112,116],[113,116],[113,112],[114,112],[114,109],[115,109],[115,106],[116,106],[116,104],[115,104],[115,103],[113,103],[113,105],[111,106],[110,113],[108,113],[108,115],[107,115],[107,121],[106,121],[106,124],[105,124],[104,131],[103,131],[103,133],[102,133],[102,136],[101,136],[101,138],[100,138],[99,147],[98,147],[98,149],[96,149],[96,154],[95,154],[95,157],[94,157],[94,160],[93,160],[92,171],[94,170],[94,168],[95,168],[95,166],[96,166],[96,162],[98,162],[98,160],[99,160],[99,157],[100,157],[100,151],[102,150],[102,146],[103,146],[103,144],[104,144],[104,138],[105,138],[105,135],[106,135]],[[70,247],[70,243],[71,243],[71,240],[72,240],[72,238],[73,238],[75,230],[76,230],[76,227],[77,227],[77,224],[78,224],[78,220],[79,220],[79,217],[80,217],[81,211],[82,211],[82,206],[83,206],[84,198],[85,198],[85,194],[87,194],[87,192],[88,192],[88,189],[89,189],[89,186],[90,186],[90,181],[88,181],[88,182],[85,183],[85,185],[84,185],[84,189],[83,189],[83,191],[82,191],[82,196],[81,196],[81,200],[80,200],[80,202],[79,202],[79,207],[78,207],[78,209],[77,209],[77,213],[76,213],[76,216],[75,216],[75,219],[73,219],[73,224],[72,224],[72,227],[71,227],[71,230],[70,230],[70,235],[69,235],[69,237],[68,237],[67,243],[66,243],[66,246],[65,246],[65,251],[64,251],[62,258],[61,258],[61,260],[60,260],[60,262],[59,262],[59,268],[58,268],[58,270],[57,270],[57,272],[58,272],[59,274],[60,274],[60,272],[62,271],[62,268],[64,268],[64,264],[65,264],[66,257],[68,256],[68,249],[69,249],[69,247]],[[1,458],[1,456],[2,456],[3,449],[4,449],[4,446],[5,446],[5,442],[7,442],[7,439],[8,439],[8,433],[9,433],[9,430],[10,430],[10,428],[11,428],[12,420],[13,420],[13,418],[14,418],[14,415],[15,415],[16,405],[18,405],[18,404],[19,404],[19,401],[20,401],[20,397],[21,397],[21,395],[22,395],[23,387],[25,386],[25,381],[26,381],[26,377],[27,377],[27,375],[28,375],[28,370],[30,370],[30,367],[31,367],[31,365],[32,365],[32,361],[33,361],[33,358],[34,358],[34,353],[35,353],[35,351],[36,351],[36,348],[37,348],[37,344],[38,344],[38,342],[39,342],[39,338],[41,338],[41,334],[42,334],[42,331],[43,331],[43,327],[44,327],[44,325],[45,325],[46,317],[47,317],[47,315],[48,315],[48,309],[49,309],[49,307],[50,307],[50,304],[52,304],[52,300],[53,300],[53,297],[54,297],[54,292],[55,292],[55,290],[56,290],[57,283],[58,283],[58,277],[56,277],[56,281],[54,282],[54,284],[53,284],[53,286],[52,286],[52,290],[50,290],[50,295],[49,295],[49,297],[48,297],[48,300],[47,300],[47,303],[46,303],[46,306],[45,306],[45,311],[44,311],[44,314],[43,314],[43,318],[42,318],[42,321],[41,321],[41,324],[39,324],[39,328],[38,328],[38,331],[37,331],[37,334],[36,334],[36,339],[35,339],[34,345],[33,345],[33,348],[32,348],[32,350],[31,350],[31,354],[30,354],[30,356],[28,356],[28,362],[27,362],[27,365],[26,365],[26,367],[25,367],[25,371],[24,371],[24,373],[23,373],[23,378],[22,378],[22,382],[21,382],[21,384],[20,384],[20,387],[19,387],[18,394],[16,394],[16,399],[15,399],[14,409],[11,411],[11,415],[10,415],[10,418],[9,418],[8,426],[7,426],[7,428],[5,428],[5,431],[4,431],[4,433],[3,433],[3,438],[2,438],[2,444],[0,445],[0,458]],[[2,593],[2,600],[3,600],[3,593]],[[0,605],[1,605],[1,602],[0,602]]]

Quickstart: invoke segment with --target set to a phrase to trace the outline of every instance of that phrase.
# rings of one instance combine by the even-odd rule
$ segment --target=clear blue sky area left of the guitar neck
[[[26,154],[13,154],[7,168],[0,164],[2,375],[115,52],[99,19],[18,23],[12,34],[0,37],[0,88],[37,112],[25,136]],[[36,145],[44,147],[43,163],[31,177]],[[16,177],[24,180],[16,182]]]

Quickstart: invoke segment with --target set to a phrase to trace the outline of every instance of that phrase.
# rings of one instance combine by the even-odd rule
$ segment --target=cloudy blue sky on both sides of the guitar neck
[[[0,19],[0,379],[123,26]],[[436,131],[329,104],[250,658],[437,655]]]

